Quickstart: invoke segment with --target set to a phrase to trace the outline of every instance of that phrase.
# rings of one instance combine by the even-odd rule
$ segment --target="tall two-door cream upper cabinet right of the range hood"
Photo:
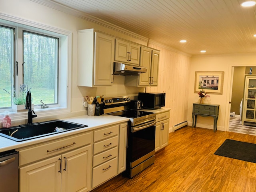
[[[160,51],[148,47],[140,49],[140,66],[148,68],[139,76],[126,76],[126,86],[157,86]]]

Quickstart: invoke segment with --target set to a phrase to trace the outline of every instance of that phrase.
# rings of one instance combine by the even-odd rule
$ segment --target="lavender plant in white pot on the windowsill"
[[[26,104],[26,93],[31,88],[28,88],[28,84],[21,84],[20,85],[20,92],[16,93],[16,91],[13,91],[12,96],[12,111],[14,112],[23,112],[27,111],[25,109]],[[3,89],[5,90],[5,89]],[[8,94],[10,94],[7,90],[5,90]],[[32,108],[34,108],[34,104],[32,104]]]

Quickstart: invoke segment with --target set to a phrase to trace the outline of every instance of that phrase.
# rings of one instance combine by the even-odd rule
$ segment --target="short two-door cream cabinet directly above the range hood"
[[[115,61],[125,62],[139,66],[140,64],[140,45],[133,44],[124,40],[116,39]]]

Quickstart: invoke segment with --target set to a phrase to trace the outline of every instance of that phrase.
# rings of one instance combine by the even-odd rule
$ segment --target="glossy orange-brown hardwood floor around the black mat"
[[[256,136],[186,126],[169,134],[153,165],[129,179],[122,174],[92,192],[255,192],[256,164],[214,155],[226,140]]]

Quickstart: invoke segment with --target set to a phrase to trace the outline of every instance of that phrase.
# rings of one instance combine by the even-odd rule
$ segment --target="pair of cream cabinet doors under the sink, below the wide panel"
[[[20,168],[20,192],[90,190],[91,145]]]

